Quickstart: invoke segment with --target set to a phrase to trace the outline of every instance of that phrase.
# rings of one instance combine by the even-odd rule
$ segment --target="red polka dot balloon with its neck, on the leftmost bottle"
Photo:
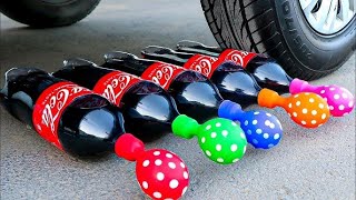
[[[115,151],[127,160],[136,160],[137,181],[152,199],[179,199],[189,184],[187,166],[175,153],[164,149],[145,151],[144,143],[132,134],[122,134]]]

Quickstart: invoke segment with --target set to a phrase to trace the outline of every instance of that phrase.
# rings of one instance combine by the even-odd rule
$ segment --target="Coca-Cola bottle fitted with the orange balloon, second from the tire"
[[[248,72],[231,61],[220,62],[212,57],[176,52],[157,46],[147,47],[141,52],[147,59],[160,60],[202,73],[217,86],[224,99],[238,102],[243,107],[257,103],[261,88]]]

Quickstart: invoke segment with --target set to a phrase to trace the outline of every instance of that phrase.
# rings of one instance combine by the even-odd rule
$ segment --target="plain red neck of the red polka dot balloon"
[[[145,153],[145,144],[130,133],[125,133],[115,142],[115,153],[129,161],[136,161]]]

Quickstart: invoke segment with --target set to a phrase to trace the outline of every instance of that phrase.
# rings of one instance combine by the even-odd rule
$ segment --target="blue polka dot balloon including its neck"
[[[225,100],[219,107],[219,117],[239,121],[247,142],[257,149],[277,146],[283,136],[279,120],[265,111],[243,111],[238,103]]]

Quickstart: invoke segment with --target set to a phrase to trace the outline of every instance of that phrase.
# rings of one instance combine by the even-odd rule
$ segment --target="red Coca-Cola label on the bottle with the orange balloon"
[[[197,71],[204,76],[211,78],[214,71],[224,62],[217,58],[196,54],[191,57],[184,66],[185,69]]]

